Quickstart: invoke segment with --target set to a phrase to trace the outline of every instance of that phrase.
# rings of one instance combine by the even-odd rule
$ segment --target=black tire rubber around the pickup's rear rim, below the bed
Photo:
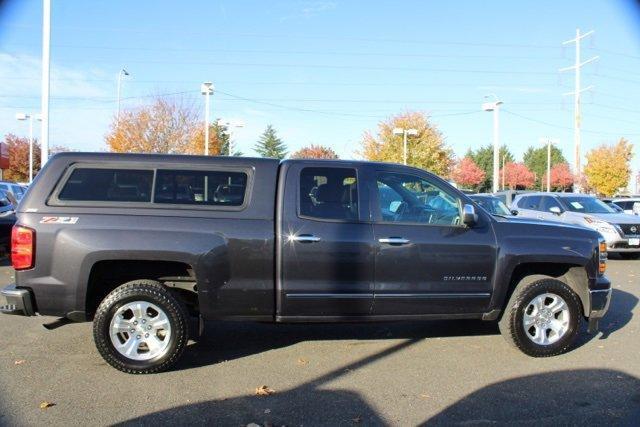
[[[164,311],[169,320],[169,342],[163,353],[153,359],[128,358],[116,350],[112,343],[111,320],[119,308],[133,301],[154,304]],[[129,374],[152,374],[169,369],[180,358],[189,337],[188,320],[184,305],[160,283],[134,280],[113,290],[100,303],[93,320],[93,338],[100,355],[114,368]]]

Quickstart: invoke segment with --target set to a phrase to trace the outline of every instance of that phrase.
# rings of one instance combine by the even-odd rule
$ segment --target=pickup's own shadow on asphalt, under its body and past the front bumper
[[[638,304],[634,295],[613,290],[609,312],[600,322],[596,335],[583,333],[576,347],[581,347],[594,338],[607,339],[622,329],[633,317]],[[194,328],[195,330],[195,328]],[[227,360],[284,348],[303,341],[321,340],[385,340],[424,339],[482,336],[499,334],[495,322],[479,320],[447,320],[393,323],[349,323],[349,324],[269,324],[248,322],[210,323],[205,334],[189,345],[176,367],[177,370],[207,366]]]

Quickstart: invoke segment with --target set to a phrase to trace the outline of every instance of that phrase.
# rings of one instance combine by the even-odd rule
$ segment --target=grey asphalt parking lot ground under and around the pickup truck
[[[5,262],[1,284],[12,274]],[[88,323],[2,316],[0,425],[637,424],[640,261],[612,259],[608,275],[603,332],[549,359],[475,321],[228,323],[173,371],[132,376],[103,362]]]

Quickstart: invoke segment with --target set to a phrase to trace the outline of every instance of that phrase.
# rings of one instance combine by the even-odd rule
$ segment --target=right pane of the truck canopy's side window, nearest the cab
[[[154,202],[242,206],[246,190],[244,172],[158,169]]]

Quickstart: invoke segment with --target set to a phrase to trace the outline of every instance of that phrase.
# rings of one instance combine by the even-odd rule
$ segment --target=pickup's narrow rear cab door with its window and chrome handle
[[[357,164],[286,162],[281,175],[279,317],[352,318],[373,304],[373,230]],[[281,184],[282,185],[282,184]]]

